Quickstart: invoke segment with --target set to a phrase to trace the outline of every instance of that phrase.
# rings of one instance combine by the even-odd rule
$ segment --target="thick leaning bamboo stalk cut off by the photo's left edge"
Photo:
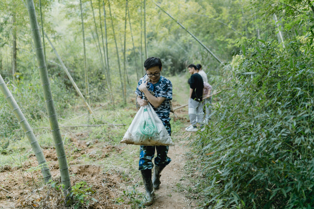
[[[38,161],[38,165],[41,166],[41,173],[44,177],[44,181],[45,183],[48,183],[49,181],[51,181],[51,173],[50,173],[48,164],[46,162],[45,156],[41,150],[40,145],[38,144],[37,138],[34,132],[32,131],[32,128],[30,127],[30,124],[28,123],[23,112],[19,108],[19,105],[16,103],[6,83],[3,81],[1,74],[0,74],[0,90],[3,93],[4,97],[6,98],[7,102],[9,103],[9,106],[11,107],[12,112],[18,119],[19,124],[22,127],[21,130],[24,130],[24,133],[26,137],[28,138],[28,141],[30,142],[30,146],[32,147],[35,153],[36,159]]]

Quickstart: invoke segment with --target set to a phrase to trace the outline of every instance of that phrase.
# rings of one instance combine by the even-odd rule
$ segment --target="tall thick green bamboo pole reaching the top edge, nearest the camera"
[[[62,141],[62,137],[60,133],[56,109],[55,109],[54,102],[52,99],[52,93],[50,89],[50,83],[49,83],[47,67],[46,67],[46,61],[44,58],[44,51],[41,45],[41,36],[40,36],[39,27],[37,23],[35,5],[34,5],[33,0],[26,0],[26,3],[27,3],[28,15],[30,18],[31,31],[33,35],[34,44],[35,44],[37,62],[39,65],[38,69],[39,69],[39,74],[41,77],[41,86],[44,92],[44,98],[45,98],[51,133],[52,133],[52,137],[55,143],[57,158],[59,162],[61,183],[62,185],[64,185],[62,186],[62,189],[65,194],[65,201],[68,204],[72,204],[73,197],[69,195],[71,194],[71,179],[70,179],[69,170],[68,170],[68,162],[67,162],[67,157],[65,154],[63,141]]]

